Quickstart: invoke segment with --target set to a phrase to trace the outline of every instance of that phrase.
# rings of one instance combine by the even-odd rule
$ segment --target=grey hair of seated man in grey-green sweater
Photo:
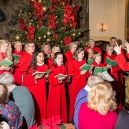
[[[12,85],[14,83],[13,75],[9,72],[4,72],[0,75],[0,83],[3,83],[7,86]]]

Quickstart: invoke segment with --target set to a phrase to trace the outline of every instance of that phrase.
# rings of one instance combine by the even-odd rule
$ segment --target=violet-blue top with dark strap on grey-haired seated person
[[[74,116],[73,116],[76,129],[79,129],[78,128],[79,110],[80,110],[81,104],[88,101],[87,95],[88,95],[88,92],[85,89],[82,89],[82,90],[80,90],[80,92],[78,93],[78,95],[76,97],[76,102],[74,105]]]

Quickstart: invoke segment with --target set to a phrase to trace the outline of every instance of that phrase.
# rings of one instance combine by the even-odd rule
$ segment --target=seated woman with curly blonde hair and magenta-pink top
[[[114,91],[108,82],[97,83],[80,107],[79,129],[114,129],[117,121]]]

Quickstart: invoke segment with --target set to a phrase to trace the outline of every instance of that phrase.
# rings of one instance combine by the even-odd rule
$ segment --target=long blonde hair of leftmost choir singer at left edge
[[[7,40],[0,40],[0,47],[1,47],[3,44],[5,44],[5,43],[8,44],[8,50],[7,50],[7,52],[5,53],[5,54],[6,54],[6,57],[7,57],[9,60],[12,61],[12,47],[11,47],[11,43],[10,43],[9,41],[7,41]],[[0,55],[0,60],[2,60],[1,55]]]

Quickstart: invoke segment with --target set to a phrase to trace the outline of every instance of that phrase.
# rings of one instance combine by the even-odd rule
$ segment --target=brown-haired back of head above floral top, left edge
[[[0,83],[0,104],[7,104],[9,92],[5,84]]]

